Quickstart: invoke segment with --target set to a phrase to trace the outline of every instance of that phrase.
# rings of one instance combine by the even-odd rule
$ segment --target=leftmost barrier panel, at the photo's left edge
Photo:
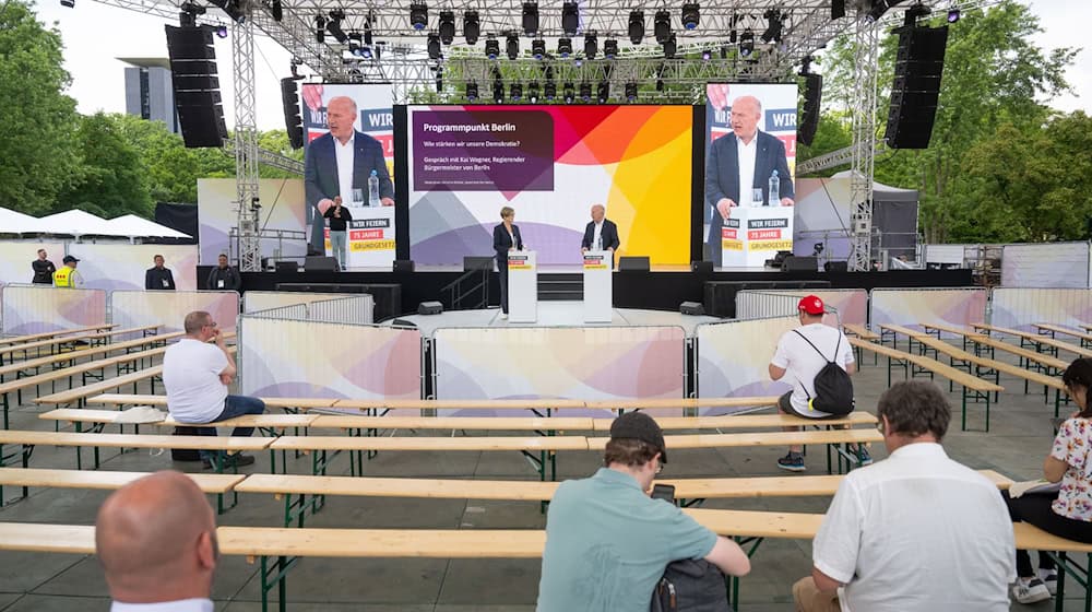
[[[22,336],[106,322],[106,297],[95,289],[4,285],[3,332]]]

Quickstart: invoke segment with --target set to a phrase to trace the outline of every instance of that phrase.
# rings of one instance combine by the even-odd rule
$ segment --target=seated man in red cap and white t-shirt
[[[785,374],[791,376],[793,390],[786,392],[778,401],[778,410],[782,414],[792,414],[805,419],[830,419],[834,415],[815,410],[810,401],[816,396],[815,377],[828,360],[836,363],[848,374],[857,370],[853,361],[853,348],[842,330],[823,325],[822,316],[826,306],[816,295],[808,295],[796,306],[800,317],[800,327],[786,332],[778,341],[778,351],[770,361],[770,378],[781,380]],[[810,342],[810,344],[809,344]],[[783,427],[785,431],[798,431],[799,427]],[[854,448],[860,464],[867,466],[873,458],[865,447]],[[803,472],[804,447],[788,447],[788,455],[778,459],[778,467],[791,472]]]

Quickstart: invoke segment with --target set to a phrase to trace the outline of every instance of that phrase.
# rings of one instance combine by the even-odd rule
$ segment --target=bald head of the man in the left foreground
[[[216,519],[189,476],[156,472],[107,497],[95,549],[110,612],[212,612]]]

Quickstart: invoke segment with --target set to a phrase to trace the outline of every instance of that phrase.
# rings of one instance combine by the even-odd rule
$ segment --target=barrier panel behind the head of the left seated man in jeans
[[[110,322],[118,327],[159,325],[159,331],[182,329],[186,315],[211,314],[219,329],[234,330],[239,316],[239,294],[234,291],[114,291]]]

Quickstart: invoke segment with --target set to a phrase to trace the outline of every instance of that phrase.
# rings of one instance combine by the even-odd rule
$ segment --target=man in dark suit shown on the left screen
[[[311,251],[324,252],[322,229],[323,214],[334,205],[334,198],[353,201],[353,189],[361,189],[368,197],[368,177],[376,170],[379,177],[379,198],[384,207],[394,205],[394,184],[387,172],[383,146],[378,140],[356,131],[356,103],[339,96],[327,104],[327,126],[330,132],[311,141],[304,161],[304,189],[307,205],[313,207],[311,219]]]

